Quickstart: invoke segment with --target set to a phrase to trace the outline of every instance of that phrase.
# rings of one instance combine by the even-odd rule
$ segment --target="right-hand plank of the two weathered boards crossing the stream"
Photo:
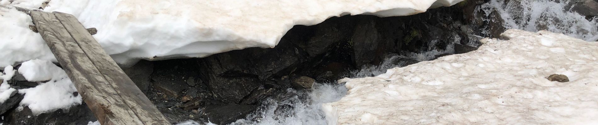
[[[152,104],[141,89],[117,65],[112,57],[91,36],[86,28],[71,14],[53,12],[72,38],[79,44],[91,62],[99,69],[106,81],[112,83],[115,91],[144,124],[169,124],[158,108]]]

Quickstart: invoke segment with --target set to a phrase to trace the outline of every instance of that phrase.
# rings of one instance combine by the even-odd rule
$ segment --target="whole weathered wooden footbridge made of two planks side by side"
[[[169,124],[76,18],[41,11],[30,15],[100,124]]]

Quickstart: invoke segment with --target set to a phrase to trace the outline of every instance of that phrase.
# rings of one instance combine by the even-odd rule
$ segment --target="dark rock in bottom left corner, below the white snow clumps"
[[[59,109],[50,113],[42,113],[34,116],[29,107],[24,107],[22,111],[10,110],[2,115],[4,124],[65,124],[80,125],[87,124],[89,121],[97,121],[93,113],[86,104],[75,105],[68,110]]]

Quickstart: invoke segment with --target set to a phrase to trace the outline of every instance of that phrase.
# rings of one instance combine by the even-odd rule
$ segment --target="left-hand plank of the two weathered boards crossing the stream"
[[[30,11],[33,23],[78,92],[101,124],[142,124],[119,93],[57,20],[56,15]]]

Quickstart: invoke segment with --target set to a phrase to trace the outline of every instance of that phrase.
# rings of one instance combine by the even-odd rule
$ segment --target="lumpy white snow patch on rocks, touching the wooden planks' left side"
[[[23,69],[23,70],[22,70]],[[28,106],[33,115],[55,111],[60,108],[68,109],[73,105],[80,105],[83,99],[74,95],[77,89],[68,78],[65,71],[48,60],[29,60],[23,62],[19,73],[30,81],[48,80],[34,88],[19,89],[19,94],[25,94],[19,109]]]

